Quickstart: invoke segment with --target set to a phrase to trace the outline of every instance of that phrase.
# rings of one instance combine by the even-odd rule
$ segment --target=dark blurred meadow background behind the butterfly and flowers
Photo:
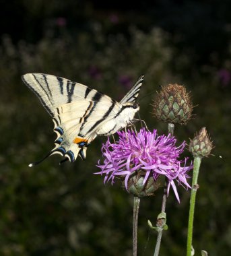
[[[52,156],[51,117],[22,83],[28,72],[61,75],[120,100],[139,75],[141,96],[166,84],[191,91],[194,119],[176,125],[178,144],[205,126],[216,148],[202,160],[193,245],[229,255],[230,224],[230,1],[0,1],[0,254],[131,255],[133,197],[103,184],[94,172],[97,138],[86,161],[59,166]],[[167,133],[152,115],[154,94],[141,100],[141,118]],[[184,156],[190,156],[187,150]],[[219,156],[222,156],[220,158]],[[170,191],[169,229],[160,255],[185,255],[190,191]],[[138,255],[153,255],[162,189],[141,199]]]

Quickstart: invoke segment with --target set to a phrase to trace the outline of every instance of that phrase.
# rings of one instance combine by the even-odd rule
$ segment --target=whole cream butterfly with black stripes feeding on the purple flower
[[[117,102],[109,96],[84,84],[44,73],[27,73],[22,80],[38,96],[40,102],[53,117],[57,133],[55,148],[48,156],[61,154],[74,162],[77,156],[86,159],[86,150],[97,135],[112,135],[133,124],[133,117],[139,110],[137,96],[143,82],[139,77],[133,88]]]

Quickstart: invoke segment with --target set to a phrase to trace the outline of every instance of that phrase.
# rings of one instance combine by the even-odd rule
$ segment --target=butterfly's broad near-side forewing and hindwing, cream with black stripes
[[[61,154],[73,162],[79,154],[85,159],[86,147],[96,137],[98,125],[119,112],[120,104],[112,98],[63,77],[28,73],[22,80],[55,123],[55,148],[47,156]]]

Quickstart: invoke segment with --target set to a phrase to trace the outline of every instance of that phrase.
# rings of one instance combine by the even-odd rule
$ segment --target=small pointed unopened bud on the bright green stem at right
[[[193,139],[190,139],[189,151],[194,157],[207,157],[212,149],[213,143],[211,139],[209,139],[205,127],[203,127],[198,134],[196,133]]]

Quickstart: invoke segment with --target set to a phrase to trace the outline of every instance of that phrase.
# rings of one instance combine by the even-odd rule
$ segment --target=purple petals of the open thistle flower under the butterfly
[[[186,166],[188,158],[178,160],[185,148],[185,141],[176,147],[174,136],[158,136],[156,130],[151,132],[145,129],[141,129],[137,134],[130,130],[119,131],[118,135],[119,141],[116,143],[110,143],[108,139],[102,145],[104,164],[98,161],[101,171],[96,174],[105,174],[104,183],[114,183],[115,177],[123,177],[128,190],[129,177],[136,171],[142,170],[145,173],[143,185],[150,177],[156,182],[160,175],[164,175],[168,179],[167,192],[169,193],[172,187],[176,199],[180,201],[174,181],[178,185],[185,185],[186,189],[190,187],[187,183],[187,172],[193,168],[192,164]]]

